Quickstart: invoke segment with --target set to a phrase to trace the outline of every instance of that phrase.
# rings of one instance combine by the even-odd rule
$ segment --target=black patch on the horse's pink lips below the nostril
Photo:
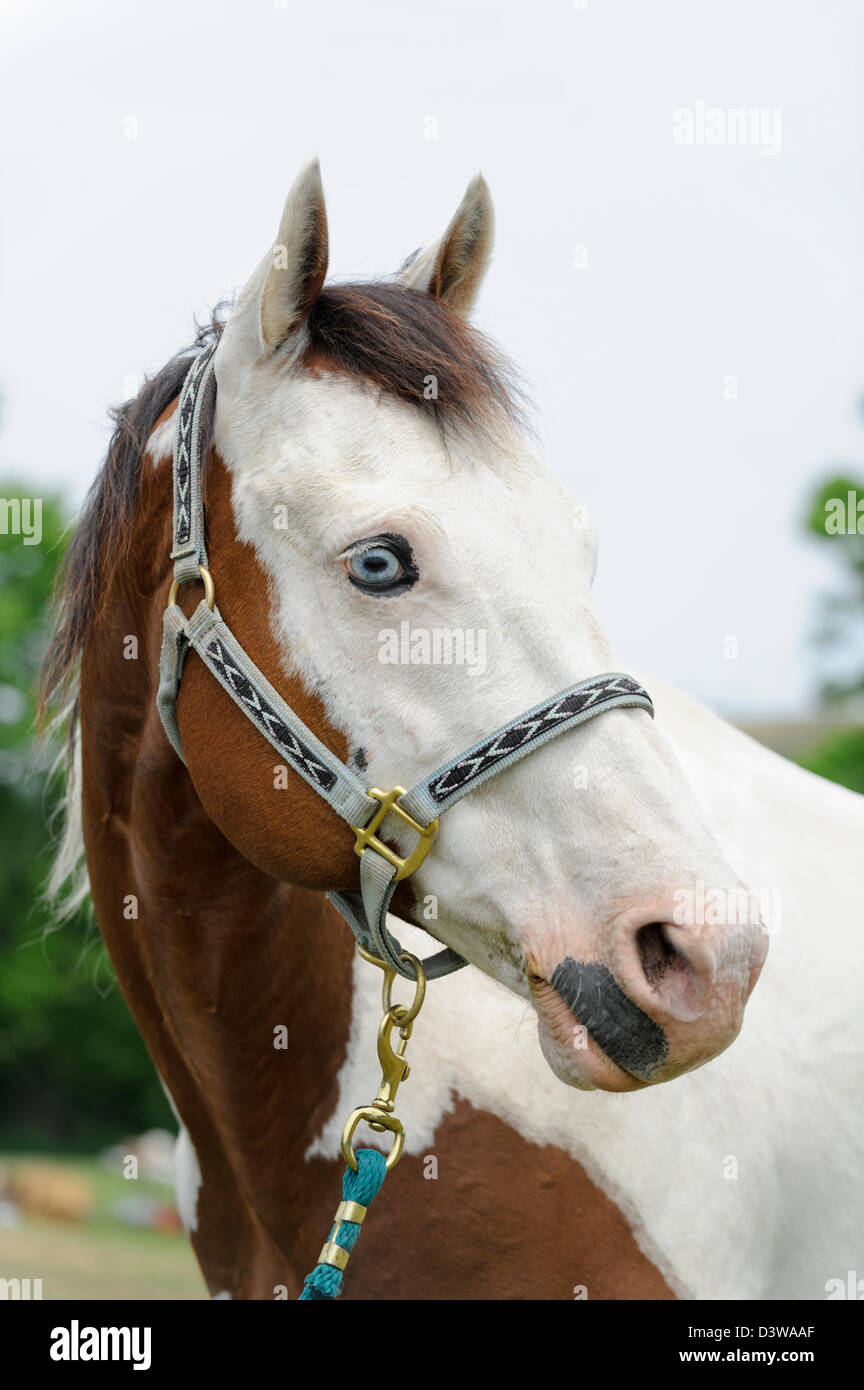
[[[558,965],[549,981],[610,1062],[639,1081],[663,1066],[670,1044],[658,1023],[633,1004],[599,960]]]

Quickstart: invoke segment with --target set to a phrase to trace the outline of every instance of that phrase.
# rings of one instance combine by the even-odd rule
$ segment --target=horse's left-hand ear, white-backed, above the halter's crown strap
[[[321,293],[328,236],[318,160],[297,175],[279,235],[240,292],[217,354],[219,391],[294,336]]]

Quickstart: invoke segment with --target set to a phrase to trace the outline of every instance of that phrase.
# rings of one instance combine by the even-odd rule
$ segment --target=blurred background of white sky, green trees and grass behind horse
[[[58,749],[33,687],[108,404],[243,282],[313,153],[333,278],[393,271],[482,168],[476,318],[599,524],[624,667],[864,792],[864,11],[0,0],[0,1277],[194,1298],[171,1113],[86,910],[49,930],[40,903]],[[40,500],[39,543],[14,499]]]

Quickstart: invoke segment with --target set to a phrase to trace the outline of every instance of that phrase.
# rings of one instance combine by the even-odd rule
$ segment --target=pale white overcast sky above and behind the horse
[[[478,322],[599,523],[621,660],[803,710],[803,498],[864,470],[864,7],[585,4],[0,0],[0,477],[82,496],[106,406],[243,282],[313,153],[336,278],[394,270],[482,168]],[[699,101],[778,108],[779,153],[676,145]]]

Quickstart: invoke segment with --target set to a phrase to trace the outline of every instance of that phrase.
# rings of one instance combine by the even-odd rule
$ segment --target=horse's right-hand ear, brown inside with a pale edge
[[[421,252],[397,284],[425,289],[463,317],[471,311],[492,257],[495,211],[482,174],[468,183],[445,235]]]

